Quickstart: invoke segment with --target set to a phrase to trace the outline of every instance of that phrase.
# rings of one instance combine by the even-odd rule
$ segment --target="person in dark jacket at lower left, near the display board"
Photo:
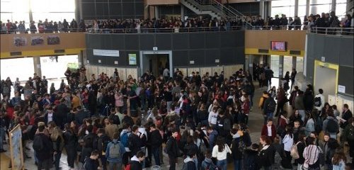
[[[45,125],[38,126],[38,133],[33,139],[35,157],[38,158],[38,170],[49,170],[52,163],[53,145],[50,138],[45,135]]]

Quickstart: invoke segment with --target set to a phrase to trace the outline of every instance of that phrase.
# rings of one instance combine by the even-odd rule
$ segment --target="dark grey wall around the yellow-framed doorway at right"
[[[338,85],[346,86],[353,96],[353,36],[307,34],[307,81],[314,82],[314,61],[325,57],[326,63],[339,65]]]

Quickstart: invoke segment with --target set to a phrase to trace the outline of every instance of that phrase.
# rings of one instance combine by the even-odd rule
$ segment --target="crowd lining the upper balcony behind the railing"
[[[152,19],[108,19],[84,21],[77,23],[74,19],[68,23],[64,21],[53,22],[45,19],[38,21],[37,26],[34,21],[30,22],[30,28],[25,28],[25,21],[18,23],[1,22],[1,33],[67,33],[76,31],[89,31],[93,33],[154,33],[154,32],[193,32],[212,30],[238,30],[245,26],[251,29],[285,29],[301,30],[319,27],[319,33],[324,32],[324,28],[353,28],[352,16],[346,15],[344,22],[338,20],[336,13],[321,13],[304,16],[303,22],[299,16],[287,17],[285,14],[269,16],[265,20],[261,16],[244,16],[238,18],[209,18],[198,16],[187,18],[185,21],[181,17],[152,18]],[[346,32],[352,32],[346,30]]]

